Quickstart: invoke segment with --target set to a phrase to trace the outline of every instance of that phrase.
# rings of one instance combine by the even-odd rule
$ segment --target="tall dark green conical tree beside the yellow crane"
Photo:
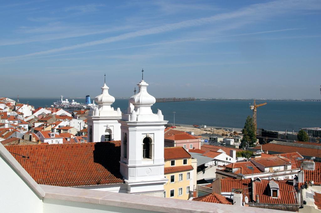
[[[256,143],[256,132],[255,132],[255,126],[253,123],[253,118],[250,116],[247,116],[244,128],[242,130],[243,138],[241,141],[241,147],[248,147],[248,146],[254,146]]]

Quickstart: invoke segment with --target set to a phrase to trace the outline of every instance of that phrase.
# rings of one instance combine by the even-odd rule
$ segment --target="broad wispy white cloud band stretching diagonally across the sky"
[[[55,48],[55,49],[46,50],[46,51],[39,51],[39,52],[34,52],[34,53],[29,53],[29,54],[20,55],[20,56],[14,56],[14,57],[3,57],[3,58],[0,58],[0,60],[5,61],[5,60],[12,60],[12,59],[22,59],[26,57],[51,54],[51,53],[56,53],[61,51],[69,51],[69,50],[74,50],[74,49],[79,49],[79,48],[84,48],[84,47],[89,47],[89,46],[94,46],[99,44],[122,41],[130,38],[140,37],[140,36],[165,33],[165,32],[174,31],[182,28],[191,28],[191,27],[201,26],[205,24],[212,24],[212,23],[221,22],[224,20],[240,19],[242,17],[251,18],[251,19],[255,17],[256,19],[260,19],[263,17],[282,14],[286,11],[293,12],[297,10],[311,10],[311,9],[314,10],[316,8],[318,9],[321,8],[320,1],[280,0],[280,1],[262,3],[262,4],[253,4],[234,12],[220,13],[211,17],[186,20],[186,21],[181,21],[181,22],[172,23],[172,24],[165,24],[159,27],[138,30],[130,33],[124,33],[117,36],[111,36],[101,40],[95,40],[91,42],[85,42],[85,43],[80,43],[76,45],[60,47],[60,48]]]

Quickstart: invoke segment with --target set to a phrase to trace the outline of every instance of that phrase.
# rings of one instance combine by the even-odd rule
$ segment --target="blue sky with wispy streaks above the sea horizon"
[[[320,99],[321,1],[2,1],[0,96]],[[136,86],[137,87],[137,86]]]

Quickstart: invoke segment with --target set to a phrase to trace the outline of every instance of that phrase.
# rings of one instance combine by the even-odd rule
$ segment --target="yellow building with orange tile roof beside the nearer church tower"
[[[181,146],[164,148],[164,197],[188,200],[194,187],[194,168],[191,155]]]

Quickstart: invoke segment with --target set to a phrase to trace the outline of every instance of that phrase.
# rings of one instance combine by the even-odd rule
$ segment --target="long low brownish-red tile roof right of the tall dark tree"
[[[254,147],[256,150],[261,150],[261,146]],[[298,152],[301,155],[304,156],[315,156],[321,157],[321,151],[318,149],[312,149],[312,148],[306,148],[306,147],[297,147],[297,146],[286,146],[286,145],[280,145],[280,144],[263,144],[262,145],[263,150],[268,150],[272,152],[279,152],[279,153],[293,153]]]

